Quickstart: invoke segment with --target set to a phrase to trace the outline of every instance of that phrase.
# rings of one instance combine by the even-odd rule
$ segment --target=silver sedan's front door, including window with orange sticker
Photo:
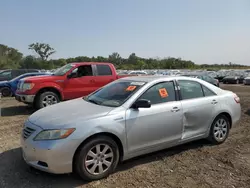
[[[178,142],[182,134],[182,108],[174,83],[155,84],[139,99],[150,100],[152,106],[126,111],[128,151]]]

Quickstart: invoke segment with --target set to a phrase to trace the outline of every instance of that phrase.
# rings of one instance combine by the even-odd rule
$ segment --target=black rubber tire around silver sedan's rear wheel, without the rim
[[[224,130],[226,130],[226,134],[224,134],[224,137],[223,139],[218,139],[216,138],[215,136],[215,129],[217,129],[217,122],[220,121],[220,120],[224,120],[224,122],[226,123],[226,127],[224,127]],[[230,122],[229,122],[229,119],[227,116],[225,115],[219,115],[215,118],[215,120],[213,121],[213,124],[211,125],[211,128],[210,128],[210,133],[209,133],[209,137],[208,137],[208,140],[212,143],[212,144],[215,144],[215,145],[218,145],[218,144],[222,144],[223,142],[225,142],[225,140],[227,139],[228,137],[228,134],[229,134],[229,131],[230,131]]]

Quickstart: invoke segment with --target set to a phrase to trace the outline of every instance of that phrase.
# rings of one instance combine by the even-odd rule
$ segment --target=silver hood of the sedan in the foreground
[[[29,121],[42,129],[74,126],[76,122],[107,115],[112,107],[86,102],[82,98],[61,102],[38,110],[29,117]]]

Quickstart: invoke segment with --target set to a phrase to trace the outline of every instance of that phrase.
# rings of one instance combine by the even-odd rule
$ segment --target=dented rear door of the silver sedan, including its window
[[[196,81],[178,80],[183,109],[182,139],[202,136],[217,112],[217,95]]]

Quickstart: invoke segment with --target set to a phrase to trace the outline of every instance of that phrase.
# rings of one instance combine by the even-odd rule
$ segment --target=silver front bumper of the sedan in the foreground
[[[78,140],[69,138],[61,140],[34,141],[34,137],[42,129],[29,121],[25,127],[35,130],[29,137],[21,136],[21,147],[25,162],[45,172],[53,174],[71,173],[73,156],[79,146]]]

